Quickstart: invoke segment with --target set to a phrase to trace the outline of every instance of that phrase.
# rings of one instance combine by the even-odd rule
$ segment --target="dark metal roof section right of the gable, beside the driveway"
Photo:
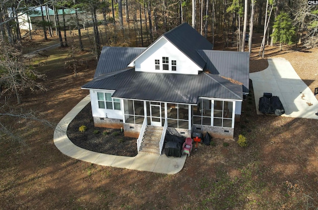
[[[249,53],[232,51],[198,50],[207,62],[206,69],[211,74],[217,74],[234,79],[243,84],[243,93],[249,90]]]

